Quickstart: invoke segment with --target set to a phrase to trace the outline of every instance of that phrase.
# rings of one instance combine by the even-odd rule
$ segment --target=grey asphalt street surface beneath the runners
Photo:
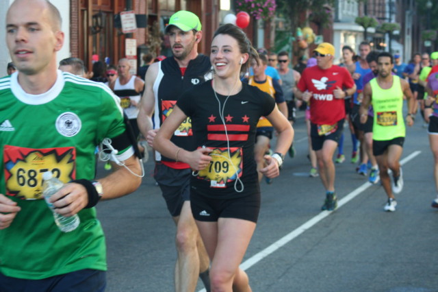
[[[320,179],[307,175],[300,112],[296,157],[285,160],[273,184],[261,184],[259,223],[242,263],[253,291],[438,291],[433,156],[420,114],[415,121],[404,143],[396,212],[383,211],[382,186],[355,173],[349,159],[336,166],[339,208],[327,212],[320,210]],[[349,158],[348,130],[345,152]],[[152,172],[149,161],[138,191],[97,207],[107,236],[107,292],[174,291],[175,226]]]

